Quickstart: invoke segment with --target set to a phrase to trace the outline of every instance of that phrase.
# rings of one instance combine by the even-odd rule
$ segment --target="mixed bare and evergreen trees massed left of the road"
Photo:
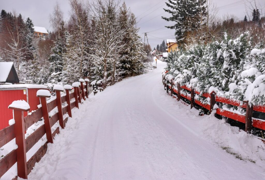
[[[147,54],[136,28],[136,18],[114,0],[92,4],[69,0],[70,19],[65,22],[56,4],[51,14],[54,32],[34,38],[28,18],[6,13],[0,19],[1,61],[15,63],[22,81],[72,83],[80,77],[113,84],[144,72]],[[89,8],[88,8],[89,7]]]

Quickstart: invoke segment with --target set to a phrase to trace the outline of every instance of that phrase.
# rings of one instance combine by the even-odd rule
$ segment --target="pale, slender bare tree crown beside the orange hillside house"
[[[52,28],[58,32],[58,36],[60,37],[60,27],[61,22],[63,21],[63,11],[61,11],[60,5],[58,1],[56,1],[54,5],[54,9],[52,14],[50,14],[50,23]]]

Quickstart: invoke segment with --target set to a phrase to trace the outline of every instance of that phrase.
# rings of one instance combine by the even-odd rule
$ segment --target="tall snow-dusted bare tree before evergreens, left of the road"
[[[118,3],[114,0],[97,0],[93,4],[90,14],[96,27],[96,31],[93,32],[95,39],[90,40],[95,42],[94,53],[91,56],[95,59],[95,64],[103,64],[104,66],[104,87],[107,85],[107,66],[113,62],[115,68],[117,52],[124,46],[121,40],[126,28],[120,28],[117,15]],[[113,73],[115,73],[115,69]]]

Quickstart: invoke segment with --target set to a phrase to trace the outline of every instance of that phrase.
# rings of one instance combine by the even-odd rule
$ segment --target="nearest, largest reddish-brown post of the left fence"
[[[14,107],[8,107],[13,109],[15,120],[15,137],[16,137],[16,157],[17,157],[17,176],[23,179],[28,179],[27,169],[27,157],[26,157],[26,145],[25,145],[25,123],[24,112],[28,109],[20,109]]]

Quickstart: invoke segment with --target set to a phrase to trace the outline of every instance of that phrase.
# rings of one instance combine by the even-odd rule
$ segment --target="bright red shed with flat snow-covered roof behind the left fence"
[[[0,130],[9,126],[8,121],[13,118],[12,109],[8,106],[15,100],[25,100],[29,103],[30,111],[38,109],[40,104],[36,93],[39,89],[48,89],[45,85],[12,84],[0,85]],[[26,116],[29,112],[25,112]]]

